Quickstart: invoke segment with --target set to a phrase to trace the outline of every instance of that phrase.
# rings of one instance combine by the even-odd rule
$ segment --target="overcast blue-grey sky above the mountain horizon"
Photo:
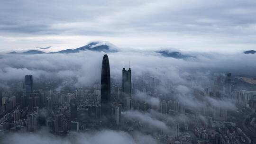
[[[137,49],[256,49],[256,0],[0,0],[0,52],[102,40]]]

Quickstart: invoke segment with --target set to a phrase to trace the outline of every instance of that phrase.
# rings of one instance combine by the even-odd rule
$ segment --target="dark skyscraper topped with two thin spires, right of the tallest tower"
[[[131,97],[131,68],[127,71],[123,68],[123,81],[122,81],[122,90],[125,94]]]

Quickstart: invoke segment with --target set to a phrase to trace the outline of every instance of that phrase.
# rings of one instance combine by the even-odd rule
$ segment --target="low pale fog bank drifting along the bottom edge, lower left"
[[[149,135],[139,132],[128,134],[123,131],[101,130],[88,133],[71,133],[58,137],[46,131],[37,134],[10,134],[1,144],[157,144]]]

